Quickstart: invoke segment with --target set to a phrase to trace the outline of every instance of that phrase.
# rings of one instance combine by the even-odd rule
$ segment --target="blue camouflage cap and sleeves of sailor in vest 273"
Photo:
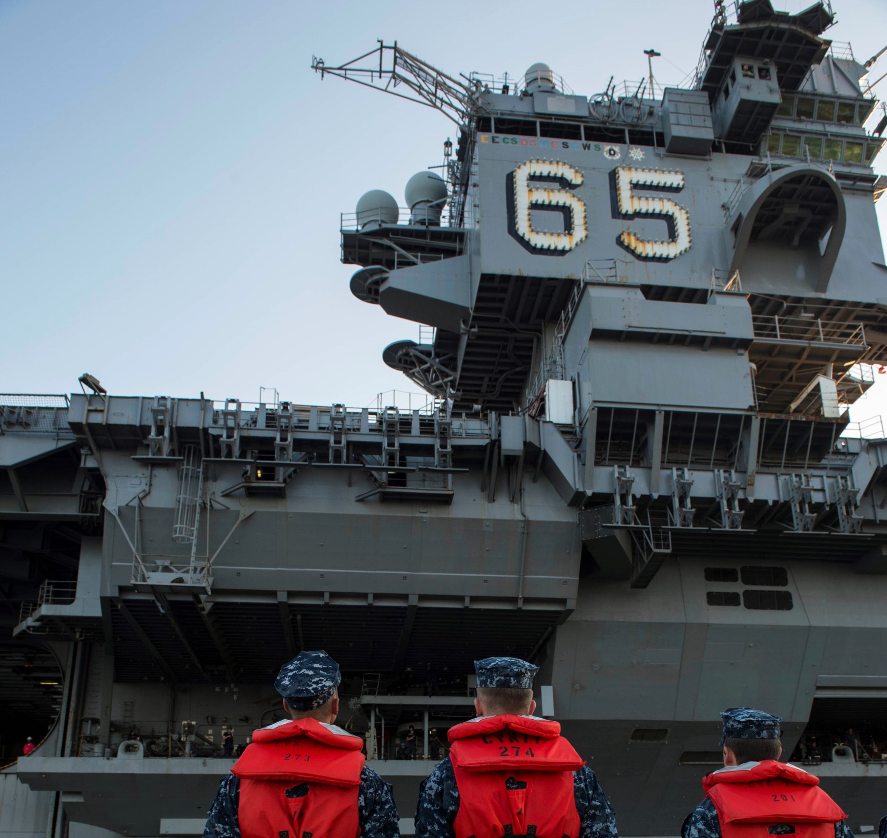
[[[281,667],[274,686],[292,709],[305,711],[326,704],[340,683],[339,664],[326,652],[302,652]],[[203,838],[241,838],[239,802],[240,779],[229,774],[219,783]],[[391,786],[371,768],[360,772],[357,823],[362,838],[398,838],[400,834]]]

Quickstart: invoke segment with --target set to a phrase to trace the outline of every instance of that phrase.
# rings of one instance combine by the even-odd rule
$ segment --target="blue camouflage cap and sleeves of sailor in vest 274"
[[[518,658],[492,657],[475,661],[478,687],[516,687],[529,690],[538,667]],[[579,812],[579,838],[618,838],[616,812],[587,766],[573,771],[573,794]],[[419,790],[416,838],[455,838],[453,822],[459,814],[459,787],[450,757],[436,765]]]

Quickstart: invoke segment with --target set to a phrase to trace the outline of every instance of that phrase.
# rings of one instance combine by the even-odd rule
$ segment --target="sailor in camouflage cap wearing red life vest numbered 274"
[[[477,718],[450,728],[450,755],[422,781],[416,838],[617,838],[613,808],[561,725],[532,715],[538,670],[475,662]]]

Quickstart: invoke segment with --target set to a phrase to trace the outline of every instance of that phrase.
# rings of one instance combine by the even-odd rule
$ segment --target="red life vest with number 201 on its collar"
[[[773,759],[722,768],[703,779],[723,838],[835,838],[835,824],[847,816],[819,784],[818,777]]]

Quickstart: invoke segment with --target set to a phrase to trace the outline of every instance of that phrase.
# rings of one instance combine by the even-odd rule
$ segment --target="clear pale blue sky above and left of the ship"
[[[834,2],[829,36],[863,58],[883,46],[884,0]],[[712,9],[4,0],[0,391],[71,391],[86,371],[124,395],[255,401],[264,385],[362,406],[408,388],[381,350],[418,326],[349,293],[339,214],[371,188],[403,202],[453,128],[321,82],[312,53],[338,64],[383,37],[451,74],[543,60],[589,95],[640,78],[648,47],[660,80],[679,81]]]

